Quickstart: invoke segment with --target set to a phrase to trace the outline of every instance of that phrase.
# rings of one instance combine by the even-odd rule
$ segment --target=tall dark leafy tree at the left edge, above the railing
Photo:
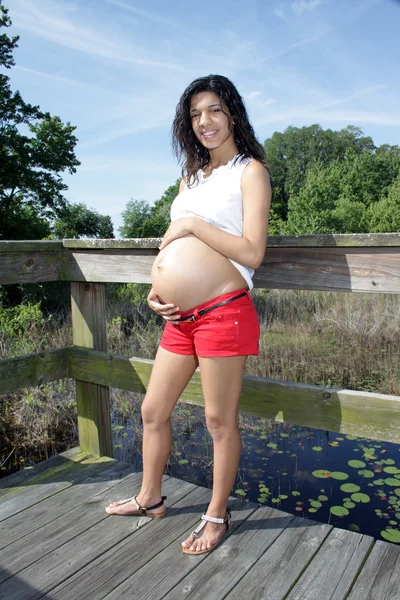
[[[8,9],[0,5],[0,27],[10,25]],[[0,66],[15,65],[18,40],[0,36]],[[44,221],[66,206],[61,174],[75,173],[80,164],[75,129],[24,102],[18,91],[11,91],[9,77],[0,74],[0,239],[42,237]]]

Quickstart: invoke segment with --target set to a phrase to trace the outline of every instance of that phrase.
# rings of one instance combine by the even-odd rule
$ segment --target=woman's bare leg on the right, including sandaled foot
[[[239,398],[246,356],[199,358],[207,428],[214,443],[213,493],[207,515],[224,518],[229,494],[239,464]],[[225,525],[207,523],[194,542],[190,536],[185,548],[206,550],[225,531]]]

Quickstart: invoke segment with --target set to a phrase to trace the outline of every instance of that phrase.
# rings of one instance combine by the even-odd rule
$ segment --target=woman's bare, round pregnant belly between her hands
[[[182,311],[246,286],[236,267],[195,236],[174,240],[154,261],[153,289]]]

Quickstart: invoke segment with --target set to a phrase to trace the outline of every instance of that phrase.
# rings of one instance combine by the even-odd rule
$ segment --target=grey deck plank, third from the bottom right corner
[[[283,600],[331,529],[330,525],[309,519],[294,519],[231,593],[224,597],[229,600]],[[323,594],[321,597],[325,598]]]

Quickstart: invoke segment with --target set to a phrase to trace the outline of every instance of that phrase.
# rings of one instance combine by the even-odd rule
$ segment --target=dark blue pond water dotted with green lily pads
[[[212,486],[212,443],[200,407],[174,422],[166,473]],[[246,418],[236,495],[305,518],[400,543],[400,446]],[[115,425],[116,458],[141,469],[141,434]]]

